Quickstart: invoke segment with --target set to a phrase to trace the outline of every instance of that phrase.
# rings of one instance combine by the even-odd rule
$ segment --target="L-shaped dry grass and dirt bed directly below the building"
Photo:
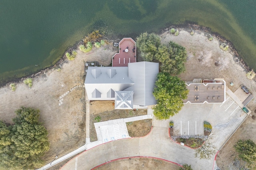
[[[140,115],[146,115],[147,109],[127,110],[127,109],[115,109],[113,105],[114,101],[92,101],[90,102],[90,141],[97,141],[97,134],[94,127],[94,123],[97,122],[95,118],[100,117],[98,121],[108,121],[112,119],[120,119],[127,117],[134,117]],[[151,125],[150,125],[151,127]]]

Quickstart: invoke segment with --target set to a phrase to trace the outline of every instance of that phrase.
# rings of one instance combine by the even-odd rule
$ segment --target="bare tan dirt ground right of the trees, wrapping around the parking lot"
[[[193,80],[194,78],[224,78],[226,85],[230,90],[235,92],[241,84],[247,86],[249,91],[254,95],[256,94],[256,83],[253,80],[246,78],[246,70],[233,53],[228,51],[222,51],[219,48],[220,41],[214,37],[213,41],[209,41],[209,33],[198,32],[194,35],[190,35],[190,30],[179,29],[180,35],[174,36],[167,31],[162,34],[162,41],[174,41],[184,47],[188,52],[188,60],[186,63],[186,72],[179,75],[184,81]],[[184,38],[186,37],[186,38]],[[210,59],[205,61],[199,61],[200,56],[211,53]],[[216,66],[216,61],[223,61],[223,64]],[[234,83],[234,86],[230,86],[230,82]],[[236,153],[234,151],[234,144],[239,139],[252,139],[256,143],[256,120],[252,119],[252,115],[256,116],[254,110],[256,109],[256,100],[253,99],[248,105],[252,111],[251,115],[247,117],[240,128],[230,138],[228,143],[220,150],[217,156],[217,165],[222,170],[238,170],[239,166],[243,165],[241,161],[234,161]]]

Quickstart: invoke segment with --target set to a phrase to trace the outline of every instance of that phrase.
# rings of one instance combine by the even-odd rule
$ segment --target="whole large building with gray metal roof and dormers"
[[[88,67],[84,82],[88,100],[115,100],[115,109],[156,104],[153,96],[159,63],[129,63],[128,67]]]

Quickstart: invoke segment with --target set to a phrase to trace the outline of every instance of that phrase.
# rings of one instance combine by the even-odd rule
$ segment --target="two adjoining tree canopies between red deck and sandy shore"
[[[159,62],[161,72],[177,75],[185,71],[187,52],[181,45],[172,41],[161,44],[160,36],[155,33],[142,33],[136,43],[142,59]]]

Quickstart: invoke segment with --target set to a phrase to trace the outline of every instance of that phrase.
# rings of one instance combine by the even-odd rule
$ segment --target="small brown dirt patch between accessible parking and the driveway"
[[[144,137],[151,131],[152,119],[127,122],[126,126],[130,137]]]

